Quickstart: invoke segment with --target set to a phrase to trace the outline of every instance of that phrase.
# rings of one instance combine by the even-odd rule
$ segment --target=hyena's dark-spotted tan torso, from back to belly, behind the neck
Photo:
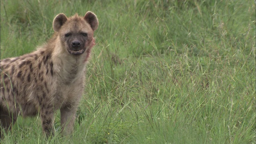
[[[32,100],[40,103],[49,95],[51,82],[54,81],[52,54],[49,50],[39,49],[16,58],[6,58],[0,62],[0,94],[13,105],[14,98],[20,104]]]

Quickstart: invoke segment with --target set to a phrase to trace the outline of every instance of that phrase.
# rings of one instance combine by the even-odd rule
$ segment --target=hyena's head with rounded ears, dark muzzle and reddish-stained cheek
[[[93,32],[97,28],[98,19],[92,12],[86,12],[84,17],[76,14],[70,18],[61,13],[53,21],[53,29],[60,37],[62,48],[72,55],[81,55],[85,51],[90,53],[95,44]]]

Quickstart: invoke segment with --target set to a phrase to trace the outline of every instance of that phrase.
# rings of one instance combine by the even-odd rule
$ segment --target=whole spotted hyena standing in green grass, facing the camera
[[[19,114],[39,114],[44,133],[54,134],[58,109],[62,132],[72,132],[97,28],[98,19],[92,12],[69,18],[58,14],[53,21],[54,34],[46,44],[30,54],[0,61],[1,135]]]

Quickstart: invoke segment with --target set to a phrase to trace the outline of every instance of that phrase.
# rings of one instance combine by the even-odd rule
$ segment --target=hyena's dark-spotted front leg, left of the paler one
[[[54,135],[53,130],[54,107],[52,105],[43,105],[40,108],[40,118],[42,128],[46,136]]]

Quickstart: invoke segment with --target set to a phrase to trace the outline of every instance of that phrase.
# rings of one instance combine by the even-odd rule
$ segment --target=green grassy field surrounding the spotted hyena
[[[18,118],[6,144],[255,144],[254,0],[1,0],[1,59],[36,49],[58,13],[99,27],[71,137]]]

